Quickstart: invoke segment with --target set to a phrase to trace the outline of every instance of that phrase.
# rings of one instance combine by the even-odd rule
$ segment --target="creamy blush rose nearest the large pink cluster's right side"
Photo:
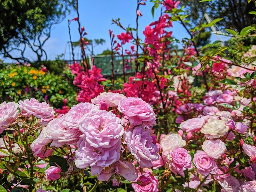
[[[163,154],[166,156],[173,151],[175,147],[184,147],[185,145],[186,141],[182,139],[182,136],[176,133],[168,134],[161,140]]]

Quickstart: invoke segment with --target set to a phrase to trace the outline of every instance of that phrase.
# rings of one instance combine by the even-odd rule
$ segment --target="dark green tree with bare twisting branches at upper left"
[[[75,0],[2,0],[0,2],[0,53],[20,62],[30,48],[41,61],[51,27],[75,8]],[[18,51],[20,56],[13,56]]]

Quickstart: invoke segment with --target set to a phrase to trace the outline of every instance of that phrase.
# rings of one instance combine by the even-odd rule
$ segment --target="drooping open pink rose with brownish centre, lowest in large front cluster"
[[[135,181],[138,177],[137,171],[132,163],[119,160],[107,169],[103,169],[101,173],[98,174],[98,179],[100,181],[108,181],[111,176],[113,176],[113,178],[118,178],[120,175],[128,181]]]

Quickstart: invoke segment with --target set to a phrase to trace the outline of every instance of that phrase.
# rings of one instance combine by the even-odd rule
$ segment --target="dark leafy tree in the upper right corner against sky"
[[[255,11],[254,2],[248,0],[212,0],[200,2],[195,0],[180,0],[185,6],[186,14],[195,25],[202,24],[204,13],[212,19],[224,18],[218,22],[220,29],[233,29],[240,32],[244,27],[256,24],[255,16],[249,11]]]

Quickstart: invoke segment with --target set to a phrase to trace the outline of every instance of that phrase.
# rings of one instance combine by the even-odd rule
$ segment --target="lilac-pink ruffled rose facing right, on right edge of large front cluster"
[[[140,167],[152,167],[152,161],[158,160],[157,145],[153,144],[153,138],[145,129],[145,126],[129,128],[124,132],[124,141],[128,150],[135,156]]]

